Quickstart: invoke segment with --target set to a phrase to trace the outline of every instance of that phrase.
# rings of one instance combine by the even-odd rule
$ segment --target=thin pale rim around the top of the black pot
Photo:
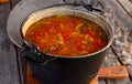
[[[81,12],[81,13],[84,13],[84,14],[90,14],[90,15],[100,18],[100,19],[102,19],[102,20],[107,23],[107,25],[110,28],[111,34],[110,34],[110,32],[109,32],[110,36],[108,38],[108,43],[107,43],[107,45],[106,45],[105,48],[102,48],[101,50],[99,50],[99,51],[97,51],[97,52],[90,53],[90,54],[80,55],[80,56],[79,56],[79,55],[78,55],[78,56],[65,56],[65,55],[61,56],[61,55],[55,55],[55,54],[50,54],[50,53],[44,53],[44,52],[43,52],[44,54],[47,54],[47,55],[50,55],[50,56],[55,56],[55,57],[64,57],[64,59],[80,59],[80,57],[87,57],[87,56],[91,56],[91,55],[96,55],[96,54],[98,54],[98,53],[101,53],[101,52],[106,51],[106,50],[112,44],[113,34],[114,34],[113,29],[112,29],[112,25],[109,24],[109,22],[108,22],[105,18],[102,18],[101,15],[96,14],[96,13],[92,13],[92,12],[88,12],[88,11],[86,12],[86,11],[82,11],[82,10],[70,9],[70,8],[68,8],[68,7],[51,7],[51,8],[45,8],[45,9],[42,9],[42,10],[38,10],[38,11],[36,11],[36,12],[31,13],[31,14],[22,22],[20,32],[21,32],[23,42],[24,42],[26,45],[29,45],[30,42],[28,42],[28,40],[25,40],[25,38],[24,38],[24,35],[23,35],[23,28],[24,28],[25,23],[26,23],[32,17],[34,17],[35,14],[38,14],[40,12],[44,12],[44,11],[48,11],[48,10],[55,10],[55,9],[57,9],[57,10],[58,10],[58,9],[59,9],[59,10],[70,10],[70,11]],[[42,19],[44,19],[44,18],[42,18]],[[41,20],[41,19],[40,19],[40,20]],[[38,50],[38,51],[40,51],[40,50]]]

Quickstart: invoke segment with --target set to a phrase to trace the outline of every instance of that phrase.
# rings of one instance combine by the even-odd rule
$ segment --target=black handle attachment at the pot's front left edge
[[[46,64],[47,62],[57,59],[55,56],[40,52],[37,46],[32,43],[29,45],[23,44],[21,56],[24,56],[28,61],[36,64]]]

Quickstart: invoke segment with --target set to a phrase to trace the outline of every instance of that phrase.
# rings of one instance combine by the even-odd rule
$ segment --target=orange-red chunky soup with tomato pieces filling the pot
[[[40,51],[61,56],[97,52],[108,43],[107,33],[95,22],[73,15],[53,15],[33,23],[25,39]]]

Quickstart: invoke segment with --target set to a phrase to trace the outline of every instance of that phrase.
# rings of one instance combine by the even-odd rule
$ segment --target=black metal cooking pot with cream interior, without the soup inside
[[[99,24],[108,35],[108,44],[91,54],[80,56],[59,56],[41,52],[36,45],[25,40],[25,33],[34,22],[57,14],[68,14],[85,18]],[[113,30],[109,23],[98,14],[85,12],[68,7],[54,7],[32,13],[22,24],[22,36],[25,44],[24,53],[41,84],[89,84],[97,75],[103,63],[108,48],[112,43]]]

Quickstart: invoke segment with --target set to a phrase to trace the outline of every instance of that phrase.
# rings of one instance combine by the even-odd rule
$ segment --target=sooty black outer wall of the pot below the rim
[[[79,59],[58,57],[44,65],[30,64],[41,84],[89,84],[97,75],[106,52]]]

